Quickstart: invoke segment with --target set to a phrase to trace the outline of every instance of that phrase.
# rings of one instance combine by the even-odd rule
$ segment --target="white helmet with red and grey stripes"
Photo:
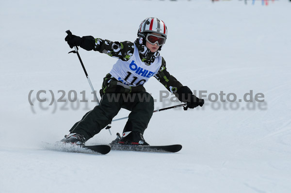
[[[147,17],[142,21],[137,35],[141,38],[146,38],[147,33],[159,33],[167,38],[167,27],[162,20],[156,17]]]

